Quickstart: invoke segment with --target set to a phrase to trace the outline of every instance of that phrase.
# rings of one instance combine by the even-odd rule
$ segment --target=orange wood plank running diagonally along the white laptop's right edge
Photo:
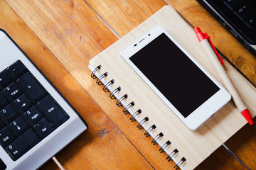
[[[65,169],[152,169],[82,86],[45,44],[26,26],[6,1],[0,1],[0,27],[14,38],[28,57],[82,115],[89,130],[58,155]],[[58,42],[56,42],[58,44]],[[127,152],[127,150],[129,152]],[[70,162],[70,164],[68,164]],[[111,164],[109,164],[111,162]],[[52,162],[41,169],[57,169]]]

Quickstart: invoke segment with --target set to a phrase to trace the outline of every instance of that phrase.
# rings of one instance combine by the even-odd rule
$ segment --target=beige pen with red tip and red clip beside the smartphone
[[[225,88],[227,88],[228,92],[231,94],[233,101],[235,102],[235,105],[238,108],[238,111],[240,111],[240,113],[242,113],[247,122],[250,123],[250,125],[252,125],[252,116],[250,115],[248,108],[245,106],[245,103],[243,103],[242,99],[240,98],[238,91],[236,91],[235,87],[230,81],[228,74],[225,72],[224,62],[220,58],[220,55],[218,54],[217,50],[215,49],[213,42],[211,42],[210,37],[207,35],[207,33],[202,33],[200,28],[198,27],[194,30],[196,32],[196,36],[199,42],[201,42],[203,49],[210,57],[210,60],[215,67],[215,70],[218,72],[220,79],[223,81]]]

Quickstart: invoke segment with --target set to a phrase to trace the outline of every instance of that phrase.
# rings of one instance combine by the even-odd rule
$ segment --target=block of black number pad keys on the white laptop
[[[16,161],[69,116],[21,61],[0,72],[0,145]]]

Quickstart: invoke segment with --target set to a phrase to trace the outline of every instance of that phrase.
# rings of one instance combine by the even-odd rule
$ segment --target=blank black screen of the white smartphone
[[[220,90],[164,33],[129,60],[184,118]]]

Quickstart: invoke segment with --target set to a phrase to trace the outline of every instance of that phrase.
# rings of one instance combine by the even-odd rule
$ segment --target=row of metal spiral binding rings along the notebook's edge
[[[97,78],[95,74],[96,74],[96,72],[97,72],[99,69],[101,69],[101,68],[102,68],[102,66],[99,65],[99,66],[97,66],[97,67],[93,70],[93,72],[92,72],[92,74],[91,74],[92,79],[96,79],[96,78]],[[102,74],[102,75],[97,79],[96,83],[97,83],[99,86],[102,85],[102,81],[101,81],[101,80],[102,80],[104,77],[107,77],[107,75],[108,75],[107,72],[105,72],[104,74]],[[103,91],[105,91],[105,92],[110,91],[110,90],[108,89],[108,87],[109,87],[110,85],[112,85],[112,84],[114,84],[114,79],[112,79],[111,81],[107,82],[107,84],[105,84],[105,86],[103,87]],[[114,96],[114,94],[116,94],[118,91],[121,91],[121,87],[120,87],[120,86],[117,87],[117,89],[114,89],[114,90],[111,92],[110,98],[111,98],[111,99],[116,98],[116,97]],[[124,96],[122,96],[121,98],[119,98],[119,100],[118,100],[117,103],[116,103],[117,107],[122,106],[122,103],[121,103],[121,102],[122,102],[125,98],[128,98],[128,95],[127,95],[127,94],[124,94]],[[131,107],[134,106],[134,105],[135,105],[135,103],[134,103],[134,101],[132,101],[131,103],[127,104],[127,106],[124,107],[124,110],[123,110],[122,112],[123,112],[124,114],[129,113],[128,109],[131,108]],[[141,110],[141,109],[139,109],[138,111],[136,111],[136,112],[129,118],[129,120],[131,120],[131,122],[134,122],[134,121],[136,120],[135,117],[136,117],[138,114],[140,114],[140,113],[142,113],[142,110]],[[142,125],[143,125],[146,121],[149,121],[149,118],[148,118],[148,117],[142,119],[142,120],[138,123],[137,128],[139,128],[139,130],[141,130],[141,129],[143,128]],[[151,125],[151,127],[150,127],[148,130],[146,130],[146,132],[144,133],[144,135],[145,135],[146,137],[149,137],[149,136],[150,136],[150,135],[149,135],[149,132],[151,132],[151,131],[154,130],[154,129],[156,129],[156,125]],[[163,137],[163,136],[164,136],[164,134],[163,134],[162,132],[160,132],[158,135],[156,135],[156,137],[154,137],[154,139],[151,141],[151,143],[152,143],[153,145],[156,145],[156,144],[157,144],[157,140],[159,140],[159,138],[160,138],[160,137]],[[168,140],[168,141],[159,149],[159,152],[160,152],[160,153],[163,153],[163,152],[164,152],[164,149],[165,149],[166,147],[168,147],[169,145],[171,145],[171,142]],[[178,153],[178,149],[174,149],[174,151],[171,152],[171,154],[169,154],[168,157],[166,157],[166,159],[168,159],[168,162],[170,162],[171,159],[172,159],[172,157],[174,157],[174,155],[177,154],[177,153]],[[185,157],[181,158],[181,161],[179,161],[178,164],[176,164],[176,166],[174,166],[174,168],[176,168],[176,170],[179,169],[179,167],[181,166],[181,164],[183,164],[184,162],[186,162],[186,158],[185,158]]]

